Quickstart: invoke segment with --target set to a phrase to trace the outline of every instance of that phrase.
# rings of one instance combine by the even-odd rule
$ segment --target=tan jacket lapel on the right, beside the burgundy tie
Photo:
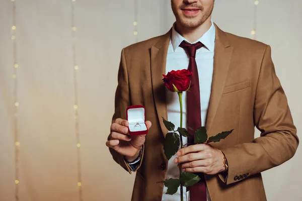
[[[214,48],[214,71],[211,87],[209,108],[206,118],[206,130],[208,133],[214,121],[215,114],[223,92],[225,80],[228,77],[233,47],[230,45],[225,33],[215,24],[215,48]]]

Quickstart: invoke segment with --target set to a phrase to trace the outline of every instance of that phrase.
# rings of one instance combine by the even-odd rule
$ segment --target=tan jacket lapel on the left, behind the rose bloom
[[[163,74],[166,74],[166,62],[169,42],[172,29],[165,35],[160,37],[160,40],[155,46],[151,47],[151,78],[152,88],[155,100],[155,106],[158,114],[158,119],[164,136],[168,133],[162,117],[168,119],[167,104],[166,104],[166,86],[163,79]]]

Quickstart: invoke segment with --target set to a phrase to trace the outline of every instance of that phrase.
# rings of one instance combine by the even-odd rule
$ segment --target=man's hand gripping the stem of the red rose
[[[225,170],[223,153],[209,144],[196,144],[178,150],[174,163],[182,163],[185,172],[216,174]]]

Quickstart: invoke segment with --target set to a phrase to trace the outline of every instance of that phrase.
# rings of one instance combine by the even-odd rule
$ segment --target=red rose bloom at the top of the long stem
[[[172,70],[167,75],[163,74],[163,76],[163,81],[170,91],[180,92],[189,90],[191,84],[190,77],[193,76],[193,73],[187,69]]]

